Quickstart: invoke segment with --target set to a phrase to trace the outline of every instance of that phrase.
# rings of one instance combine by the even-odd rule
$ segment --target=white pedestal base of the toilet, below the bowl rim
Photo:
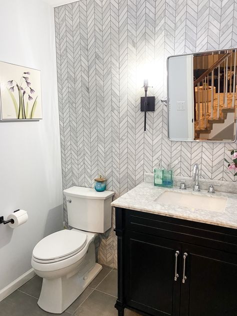
[[[95,263],[94,243],[91,242],[83,262],[61,277],[43,277],[38,306],[51,313],[62,313],[83,292],[102,266]]]

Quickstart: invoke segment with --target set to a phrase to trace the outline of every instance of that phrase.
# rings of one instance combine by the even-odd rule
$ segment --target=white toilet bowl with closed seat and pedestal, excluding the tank
[[[95,263],[95,236],[96,233],[64,229],[43,238],[35,246],[31,265],[43,278],[38,299],[40,308],[62,313],[99,273],[102,266]]]

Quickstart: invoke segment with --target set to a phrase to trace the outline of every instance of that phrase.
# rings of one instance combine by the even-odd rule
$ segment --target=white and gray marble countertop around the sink
[[[198,209],[197,205],[193,205],[194,207],[190,209],[178,205],[157,203],[157,197],[164,190],[178,191],[181,193],[190,192],[192,194],[204,194],[209,196],[222,196],[227,198],[227,202],[223,211]],[[154,186],[153,183],[142,182],[127,193],[115,199],[111,205],[114,207],[133,209],[237,229],[237,194],[234,193],[215,192],[214,194],[208,194],[207,191],[204,190],[193,192],[191,188],[180,190],[178,187],[164,188]]]

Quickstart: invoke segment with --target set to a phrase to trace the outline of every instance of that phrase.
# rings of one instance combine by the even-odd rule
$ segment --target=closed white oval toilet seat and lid
[[[39,263],[64,260],[80,252],[86,241],[86,233],[63,229],[41,239],[33,248],[32,259]]]

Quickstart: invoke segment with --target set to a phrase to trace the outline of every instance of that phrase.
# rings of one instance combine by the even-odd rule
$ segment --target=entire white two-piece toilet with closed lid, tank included
[[[94,238],[111,227],[114,192],[72,186],[63,193],[73,228],[44,237],[31,258],[35,273],[43,278],[38,305],[51,313],[63,312],[102,269],[95,262]]]

